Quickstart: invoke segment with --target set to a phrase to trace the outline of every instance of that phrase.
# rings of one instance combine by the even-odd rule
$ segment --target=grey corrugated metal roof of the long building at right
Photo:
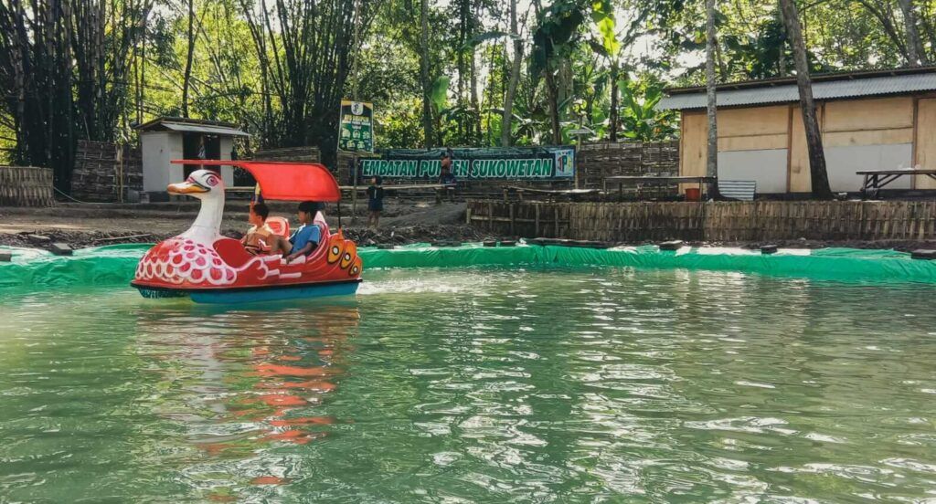
[[[812,83],[812,97],[816,100],[907,94],[920,91],[936,91],[936,72]],[[799,91],[796,84],[782,84],[774,87],[719,91],[716,94],[716,100],[718,107],[790,103],[799,100]],[[706,108],[706,94],[702,90],[695,94],[666,96],[660,100],[656,108],[660,110]]]

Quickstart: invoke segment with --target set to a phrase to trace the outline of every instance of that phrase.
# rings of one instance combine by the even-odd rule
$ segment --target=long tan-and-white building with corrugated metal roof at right
[[[680,175],[706,172],[704,86],[674,88],[658,108],[680,110]],[[856,192],[857,170],[936,169],[936,66],[812,76],[835,192]],[[758,194],[809,193],[809,155],[795,77],[718,86],[718,176],[754,180]],[[926,176],[888,188],[936,189]]]

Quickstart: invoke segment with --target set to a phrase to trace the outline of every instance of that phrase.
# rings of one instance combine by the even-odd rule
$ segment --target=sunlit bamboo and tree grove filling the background
[[[777,0],[709,2],[719,82],[793,75]],[[796,2],[810,71],[936,62],[929,0]],[[654,105],[706,80],[705,0],[0,0],[0,163],[156,116],[235,122],[240,149],[336,145],[344,97],[377,147],[655,140]]]

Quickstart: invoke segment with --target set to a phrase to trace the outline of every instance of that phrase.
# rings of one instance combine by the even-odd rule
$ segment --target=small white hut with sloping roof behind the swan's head
[[[165,193],[166,186],[180,182],[197,165],[172,165],[173,159],[230,159],[235,137],[249,137],[229,122],[159,117],[136,126],[143,163],[143,191]],[[221,178],[234,185],[231,166],[221,166]]]

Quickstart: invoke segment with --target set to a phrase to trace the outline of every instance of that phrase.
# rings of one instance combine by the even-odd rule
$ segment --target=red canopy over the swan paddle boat
[[[254,176],[256,183],[260,184],[260,193],[266,199],[335,202],[342,198],[338,181],[324,165],[227,159],[175,159],[172,163],[175,165],[239,166]]]

